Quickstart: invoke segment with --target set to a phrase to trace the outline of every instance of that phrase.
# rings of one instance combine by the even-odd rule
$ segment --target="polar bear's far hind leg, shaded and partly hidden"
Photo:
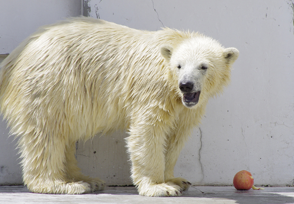
[[[104,190],[105,182],[99,178],[92,178],[84,176],[80,168],[77,166],[77,161],[74,156],[75,143],[70,147],[66,148],[66,175],[70,180],[74,182],[87,182],[91,186],[91,191],[101,191]]]

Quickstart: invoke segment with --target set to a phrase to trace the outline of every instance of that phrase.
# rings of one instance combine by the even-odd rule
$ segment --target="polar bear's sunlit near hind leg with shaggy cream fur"
[[[35,130],[36,131],[36,130]],[[57,135],[42,131],[26,133],[19,140],[24,183],[34,193],[83,194],[91,192],[91,185],[70,180],[66,175],[66,145]],[[55,137],[55,139],[54,139]]]

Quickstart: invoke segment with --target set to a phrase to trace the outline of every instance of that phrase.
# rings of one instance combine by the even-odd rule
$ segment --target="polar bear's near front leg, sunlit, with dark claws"
[[[139,123],[130,127],[127,147],[132,162],[132,179],[142,196],[180,196],[182,188],[165,182],[167,129],[161,124]]]

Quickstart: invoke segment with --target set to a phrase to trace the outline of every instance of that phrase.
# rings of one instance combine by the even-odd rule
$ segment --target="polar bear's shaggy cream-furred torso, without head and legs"
[[[137,109],[177,98],[159,47],[187,37],[84,17],[44,26],[1,64],[1,110],[12,124],[62,122],[50,127],[68,126],[64,134],[128,128]]]

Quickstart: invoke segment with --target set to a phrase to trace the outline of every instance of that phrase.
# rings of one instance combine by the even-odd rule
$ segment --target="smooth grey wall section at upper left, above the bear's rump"
[[[0,54],[10,53],[40,26],[80,16],[81,0],[1,0]]]

